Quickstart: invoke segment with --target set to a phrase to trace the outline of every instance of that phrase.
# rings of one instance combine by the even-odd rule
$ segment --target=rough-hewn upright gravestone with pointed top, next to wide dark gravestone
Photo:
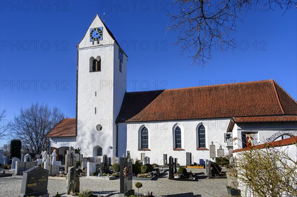
[[[76,167],[68,167],[68,174],[66,177],[66,194],[73,195],[73,193],[79,192],[79,176],[76,171]]]

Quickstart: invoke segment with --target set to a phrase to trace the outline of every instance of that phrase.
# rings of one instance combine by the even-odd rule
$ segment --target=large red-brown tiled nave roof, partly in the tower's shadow
[[[117,122],[297,115],[274,80],[126,92]]]

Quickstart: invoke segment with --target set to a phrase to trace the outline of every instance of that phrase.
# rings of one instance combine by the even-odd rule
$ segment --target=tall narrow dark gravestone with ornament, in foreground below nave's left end
[[[128,158],[120,158],[120,193],[124,196],[134,195],[135,192],[132,190],[132,162],[128,162]],[[127,177],[124,176],[124,169],[128,168]]]

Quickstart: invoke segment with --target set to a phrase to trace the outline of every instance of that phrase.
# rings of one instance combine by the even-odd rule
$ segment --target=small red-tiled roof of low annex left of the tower
[[[76,119],[63,118],[49,133],[47,137],[75,137]]]

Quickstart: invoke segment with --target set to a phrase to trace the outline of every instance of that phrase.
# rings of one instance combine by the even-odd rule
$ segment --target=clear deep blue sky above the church
[[[205,67],[192,67],[174,45],[177,33],[165,34],[169,0],[0,3],[0,110],[6,109],[6,120],[37,101],[75,117],[76,45],[103,12],[129,56],[128,91],[274,79],[297,99],[296,8],[283,15],[281,9],[253,7],[238,22],[235,50],[214,47]]]

